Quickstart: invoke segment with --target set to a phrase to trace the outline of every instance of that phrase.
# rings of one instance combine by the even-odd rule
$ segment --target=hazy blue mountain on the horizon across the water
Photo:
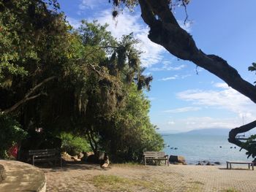
[[[228,128],[201,128],[194,129],[182,134],[197,134],[197,135],[226,135],[228,136],[230,129]]]

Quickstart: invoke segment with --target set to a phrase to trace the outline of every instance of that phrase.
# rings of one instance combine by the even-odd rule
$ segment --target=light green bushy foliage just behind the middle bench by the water
[[[157,134],[148,117],[149,101],[135,85],[127,90],[129,95],[122,109],[113,115],[115,126],[102,130],[102,145],[113,160],[140,161],[143,151],[159,151],[163,139]]]

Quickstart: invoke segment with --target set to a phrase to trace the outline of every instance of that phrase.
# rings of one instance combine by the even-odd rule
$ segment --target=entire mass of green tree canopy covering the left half
[[[3,1],[0,9],[0,112],[8,117],[1,128],[18,123],[24,150],[68,140],[65,132],[113,161],[139,161],[143,150],[163,147],[142,91],[152,77],[143,75],[133,34],[118,41],[107,25],[86,20],[76,30],[56,1]]]

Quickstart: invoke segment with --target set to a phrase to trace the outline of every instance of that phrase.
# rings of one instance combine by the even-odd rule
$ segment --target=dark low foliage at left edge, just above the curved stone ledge
[[[26,134],[13,117],[0,115],[0,158],[7,158],[7,150],[21,142]]]

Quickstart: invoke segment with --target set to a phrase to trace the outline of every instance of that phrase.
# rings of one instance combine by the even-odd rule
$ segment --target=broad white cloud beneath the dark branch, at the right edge
[[[248,121],[255,120],[255,104],[246,96],[238,93],[225,83],[215,83],[215,90],[187,90],[177,94],[179,99],[191,101],[192,104],[215,107],[235,112]],[[220,90],[216,90],[219,88]]]

